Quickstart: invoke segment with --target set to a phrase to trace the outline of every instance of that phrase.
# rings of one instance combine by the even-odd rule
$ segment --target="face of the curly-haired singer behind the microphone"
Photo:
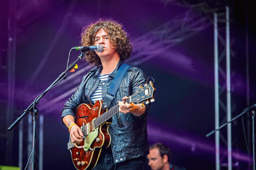
[[[95,52],[100,58],[111,57],[116,52],[116,48],[110,41],[108,32],[101,28],[96,34],[94,39],[94,45],[102,45],[102,52]]]

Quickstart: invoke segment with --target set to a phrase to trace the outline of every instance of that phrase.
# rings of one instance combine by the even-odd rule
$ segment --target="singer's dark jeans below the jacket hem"
[[[110,146],[101,150],[100,158],[93,170],[145,170],[145,159],[143,156],[115,164]]]

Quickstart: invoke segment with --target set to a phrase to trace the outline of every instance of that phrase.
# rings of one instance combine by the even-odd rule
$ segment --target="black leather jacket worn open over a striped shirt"
[[[120,60],[117,68],[109,75],[109,80],[105,81],[105,84],[101,84],[103,99],[122,63],[123,60]],[[95,67],[83,77],[76,92],[65,103],[61,118],[66,115],[75,117],[74,111],[81,103],[90,103],[93,105],[90,96],[100,83],[98,75],[101,70],[102,66]],[[144,85],[145,83],[146,76],[143,71],[136,67],[130,67],[125,73],[117,94],[109,108],[117,105],[118,101],[122,101],[122,97],[134,94],[135,90],[139,88],[139,85]],[[109,133],[111,135],[111,148],[115,163],[149,154],[146,117],[150,106],[145,105],[145,107],[145,113],[140,117],[134,116],[131,113],[123,114],[120,112],[112,117]]]

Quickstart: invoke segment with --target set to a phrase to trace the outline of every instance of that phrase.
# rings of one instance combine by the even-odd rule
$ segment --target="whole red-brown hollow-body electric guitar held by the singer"
[[[125,102],[137,104],[146,101],[146,104],[148,104],[150,101],[154,101],[155,90],[150,82],[149,85],[140,86]],[[143,105],[143,103],[141,104]],[[102,101],[96,101],[94,106],[90,104],[78,106],[76,123],[83,132],[83,142],[72,143],[71,139],[69,139],[69,143],[67,143],[67,149],[71,152],[72,162],[78,170],[93,169],[100,157],[101,149],[110,146],[111,137],[108,128],[111,123],[106,121],[117,112],[119,112],[118,104],[108,111],[102,110]]]

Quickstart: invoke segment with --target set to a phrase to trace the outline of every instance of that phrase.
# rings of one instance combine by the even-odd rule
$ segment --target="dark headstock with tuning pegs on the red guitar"
[[[156,89],[153,86],[153,83],[150,81],[149,84],[145,84],[144,87],[139,86],[139,89],[136,90],[132,96],[130,96],[130,101],[131,103],[134,102],[135,104],[142,101],[146,101],[146,104],[153,102],[155,101],[155,99],[153,99],[155,90]]]

